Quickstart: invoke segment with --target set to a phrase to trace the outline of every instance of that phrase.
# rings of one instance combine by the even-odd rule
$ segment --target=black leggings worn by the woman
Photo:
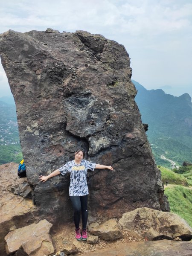
[[[88,218],[88,211],[87,211],[87,199],[88,195],[73,195],[70,196],[71,202],[73,204],[74,209],[74,222],[76,228],[79,228],[80,216],[82,217],[82,228],[86,229],[87,227],[87,218]]]

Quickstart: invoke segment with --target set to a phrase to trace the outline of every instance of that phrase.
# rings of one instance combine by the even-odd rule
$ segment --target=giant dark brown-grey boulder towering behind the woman
[[[73,159],[80,146],[90,161],[114,168],[87,177],[92,216],[160,209],[160,172],[134,101],[130,58],[122,45],[84,31],[9,30],[0,36],[0,54],[41,218],[53,223],[72,216],[69,177],[39,183],[38,176]]]

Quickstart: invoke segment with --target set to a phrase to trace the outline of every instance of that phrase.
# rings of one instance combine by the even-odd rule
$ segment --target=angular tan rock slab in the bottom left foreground
[[[6,253],[9,255],[17,250],[30,256],[54,253],[51,236],[48,234],[52,224],[46,220],[31,224],[9,232],[6,237]],[[21,248],[22,247],[22,248]],[[17,252],[19,255],[19,252]]]

